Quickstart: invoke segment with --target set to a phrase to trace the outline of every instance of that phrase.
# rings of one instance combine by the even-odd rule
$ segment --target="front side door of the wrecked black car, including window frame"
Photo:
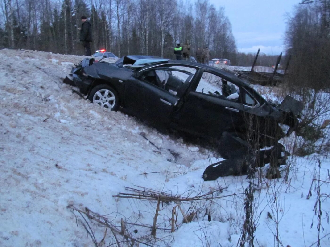
[[[161,64],[143,68],[127,81],[125,109],[150,122],[168,124],[196,69]]]

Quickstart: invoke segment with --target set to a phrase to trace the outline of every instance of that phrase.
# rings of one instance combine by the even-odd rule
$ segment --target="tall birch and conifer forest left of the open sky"
[[[212,57],[236,59],[236,44],[224,9],[208,0],[1,0],[0,46],[83,54],[80,17],[89,17],[93,50],[119,57],[149,54],[173,57],[177,41],[191,52],[208,46]],[[234,62],[234,61],[233,61]]]

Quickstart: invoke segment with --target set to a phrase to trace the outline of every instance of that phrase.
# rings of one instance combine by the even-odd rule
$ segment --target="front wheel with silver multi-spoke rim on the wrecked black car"
[[[119,97],[116,90],[106,84],[94,87],[88,96],[90,102],[98,104],[102,107],[110,108],[117,111],[119,108]]]

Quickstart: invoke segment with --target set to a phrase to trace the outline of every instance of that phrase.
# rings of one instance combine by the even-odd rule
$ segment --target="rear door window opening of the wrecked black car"
[[[202,74],[196,92],[234,101],[239,98],[239,87],[218,75],[206,71]]]

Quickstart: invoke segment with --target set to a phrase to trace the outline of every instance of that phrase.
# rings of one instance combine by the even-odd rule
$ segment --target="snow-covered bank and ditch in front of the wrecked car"
[[[135,185],[189,197],[225,188],[220,195],[228,195],[226,198],[183,203],[183,211],[193,210],[197,217],[182,224],[179,214],[176,231],[157,230],[157,237],[163,241],[154,245],[236,246],[244,220],[241,193],[248,186],[246,177],[204,182],[204,169],[221,160],[212,151],[160,133],[121,112],[102,109],[72,93],[62,79],[82,58],[0,51],[0,246],[94,246],[67,209],[69,204],[107,215],[116,225],[120,225],[121,218],[152,225],[155,202],[112,197],[125,192],[124,186]],[[330,162],[319,158],[320,180],[329,181]],[[284,246],[310,246],[317,241],[314,186],[310,200],[306,196],[318,174],[318,163],[312,157],[290,161],[289,182],[262,179],[255,192],[255,246],[275,245],[277,213]],[[165,173],[141,175],[151,172]],[[237,195],[230,196],[233,193]],[[329,193],[328,183],[322,184],[321,193]],[[321,205],[323,237],[330,233],[326,222],[329,199],[322,198]],[[159,228],[170,229],[174,206],[161,205]],[[211,221],[206,209],[211,212]],[[104,229],[90,225],[97,241],[101,241]],[[137,233],[133,233],[135,229]],[[149,234],[149,229],[142,227],[130,231],[134,237]],[[111,236],[108,232],[105,246],[113,243]],[[330,246],[329,236],[322,238],[321,246]]]

